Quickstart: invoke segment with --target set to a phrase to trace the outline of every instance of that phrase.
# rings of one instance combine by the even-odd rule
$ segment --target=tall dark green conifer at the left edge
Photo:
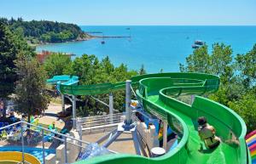
[[[4,19],[0,20],[0,98],[4,102],[3,117],[5,117],[6,100],[15,91],[17,80],[15,59],[18,54],[26,53],[34,56],[33,49],[26,41],[9,30]]]

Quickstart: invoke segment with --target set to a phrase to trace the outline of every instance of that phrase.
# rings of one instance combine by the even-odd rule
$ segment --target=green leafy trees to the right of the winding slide
[[[221,85],[209,98],[235,110],[247,123],[248,131],[256,128],[256,44],[247,54],[237,54],[235,59],[230,46],[215,43],[212,54],[208,54],[204,45],[186,58],[186,65],[180,64],[180,71],[218,75]]]

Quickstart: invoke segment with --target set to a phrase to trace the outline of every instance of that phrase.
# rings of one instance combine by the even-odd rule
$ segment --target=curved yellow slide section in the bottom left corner
[[[35,156],[24,153],[25,161],[32,164],[41,164]],[[2,151],[0,152],[0,164],[16,164],[22,161],[22,153],[19,151]]]

